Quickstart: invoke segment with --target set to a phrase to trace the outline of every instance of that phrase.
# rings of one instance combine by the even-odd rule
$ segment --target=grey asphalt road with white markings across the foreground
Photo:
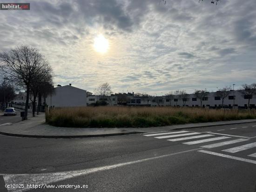
[[[256,123],[87,139],[0,136],[0,191],[44,183],[54,189],[30,191],[255,192],[255,153]],[[85,188],[57,188],[68,184]]]

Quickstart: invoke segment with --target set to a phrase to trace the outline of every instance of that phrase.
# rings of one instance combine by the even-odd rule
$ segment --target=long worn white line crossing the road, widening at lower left
[[[31,184],[31,181],[33,181],[34,185],[50,184],[57,181],[78,177],[81,175],[88,175],[95,172],[105,171],[105,170],[114,169],[122,166],[128,166],[128,165],[137,164],[137,163],[141,163],[149,160],[161,159],[161,158],[170,157],[173,155],[182,154],[186,152],[198,151],[200,149],[202,148],[197,148],[197,149],[192,149],[192,150],[187,150],[182,152],[175,152],[167,155],[161,155],[158,157],[151,157],[147,159],[129,161],[129,162],[119,163],[119,164],[110,165],[110,166],[94,167],[90,169],[83,169],[83,170],[76,170],[76,171],[34,173],[34,174],[0,174],[0,175],[3,175],[4,181],[7,185],[10,185],[13,183],[17,185],[24,184],[24,188],[16,188],[15,190],[12,189],[13,192],[14,191],[21,192],[21,191],[27,191],[31,189],[31,188],[30,189],[26,188],[27,184],[28,185]]]

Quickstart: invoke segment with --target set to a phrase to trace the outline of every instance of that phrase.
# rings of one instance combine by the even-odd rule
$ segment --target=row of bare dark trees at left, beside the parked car
[[[2,78],[1,78],[2,77]],[[13,85],[17,90],[26,91],[25,119],[29,99],[33,105],[33,116],[35,116],[36,101],[41,103],[41,96],[53,92],[53,70],[45,57],[38,49],[30,46],[17,46],[9,52],[0,53],[0,79],[5,79],[8,85]],[[7,90],[7,86],[4,87]],[[7,95],[5,100],[10,99]]]

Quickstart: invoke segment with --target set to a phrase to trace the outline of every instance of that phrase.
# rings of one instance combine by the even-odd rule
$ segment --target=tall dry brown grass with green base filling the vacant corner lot
[[[176,107],[67,107],[46,113],[46,122],[61,127],[150,127],[222,120],[256,119],[255,111]]]

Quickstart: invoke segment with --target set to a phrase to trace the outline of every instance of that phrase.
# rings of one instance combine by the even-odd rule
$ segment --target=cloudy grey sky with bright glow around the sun
[[[256,0],[29,3],[29,11],[0,11],[0,51],[40,49],[55,85],[94,91],[108,82],[114,92],[161,95],[256,82]],[[106,53],[94,49],[99,35]]]

